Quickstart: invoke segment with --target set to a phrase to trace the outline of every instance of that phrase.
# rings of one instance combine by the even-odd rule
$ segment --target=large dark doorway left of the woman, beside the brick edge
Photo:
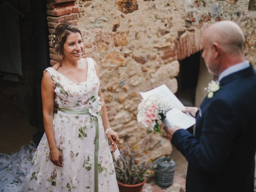
[[[8,32],[17,29],[19,33],[16,34],[20,37],[22,73],[14,74],[15,79],[3,78],[5,74],[12,73],[0,75],[0,104],[3,111],[0,116],[0,152],[11,153],[33,139],[39,142],[44,130],[40,84],[43,71],[49,66],[49,32],[46,1],[0,0],[0,6],[10,15],[14,12],[18,23],[14,28],[14,19],[0,18],[4,21],[1,30],[7,34],[2,37],[8,38]],[[9,9],[12,12],[8,12]],[[17,44],[10,40],[1,46],[9,50]],[[0,65],[4,63],[3,58],[1,55]],[[6,60],[12,62],[11,57]]]

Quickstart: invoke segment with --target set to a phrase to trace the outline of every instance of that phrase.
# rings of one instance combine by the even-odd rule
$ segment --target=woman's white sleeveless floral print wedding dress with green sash
[[[100,82],[92,58],[87,58],[87,63],[87,81],[78,84],[54,68],[46,69],[56,86],[55,102],[59,109],[64,108],[64,111],[58,110],[53,119],[55,140],[64,164],[58,167],[50,161],[44,133],[20,192],[119,192],[99,115],[103,105],[98,97]],[[66,109],[75,112],[66,113]],[[84,109],[87,113],[81,114],[79,111]]]

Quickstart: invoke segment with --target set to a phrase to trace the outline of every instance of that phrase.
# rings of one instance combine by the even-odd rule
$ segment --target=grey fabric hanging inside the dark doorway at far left
[[[22,75],[19,14],[24,15],[17,7],[17,0],[4,0],[0,4],[0,72],[8,80],[18,80],[13,76]]]

